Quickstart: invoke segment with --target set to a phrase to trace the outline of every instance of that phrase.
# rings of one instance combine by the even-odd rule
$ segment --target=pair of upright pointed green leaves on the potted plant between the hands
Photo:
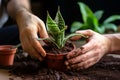
[[[62,41],[65,37],[65,23],[61,16],[60,11],[58,10],[55,20],[53,20],[49,13],[47,14],[46,27],[51,38],[51,42],[55,44],[58,48],[61,48]]]

